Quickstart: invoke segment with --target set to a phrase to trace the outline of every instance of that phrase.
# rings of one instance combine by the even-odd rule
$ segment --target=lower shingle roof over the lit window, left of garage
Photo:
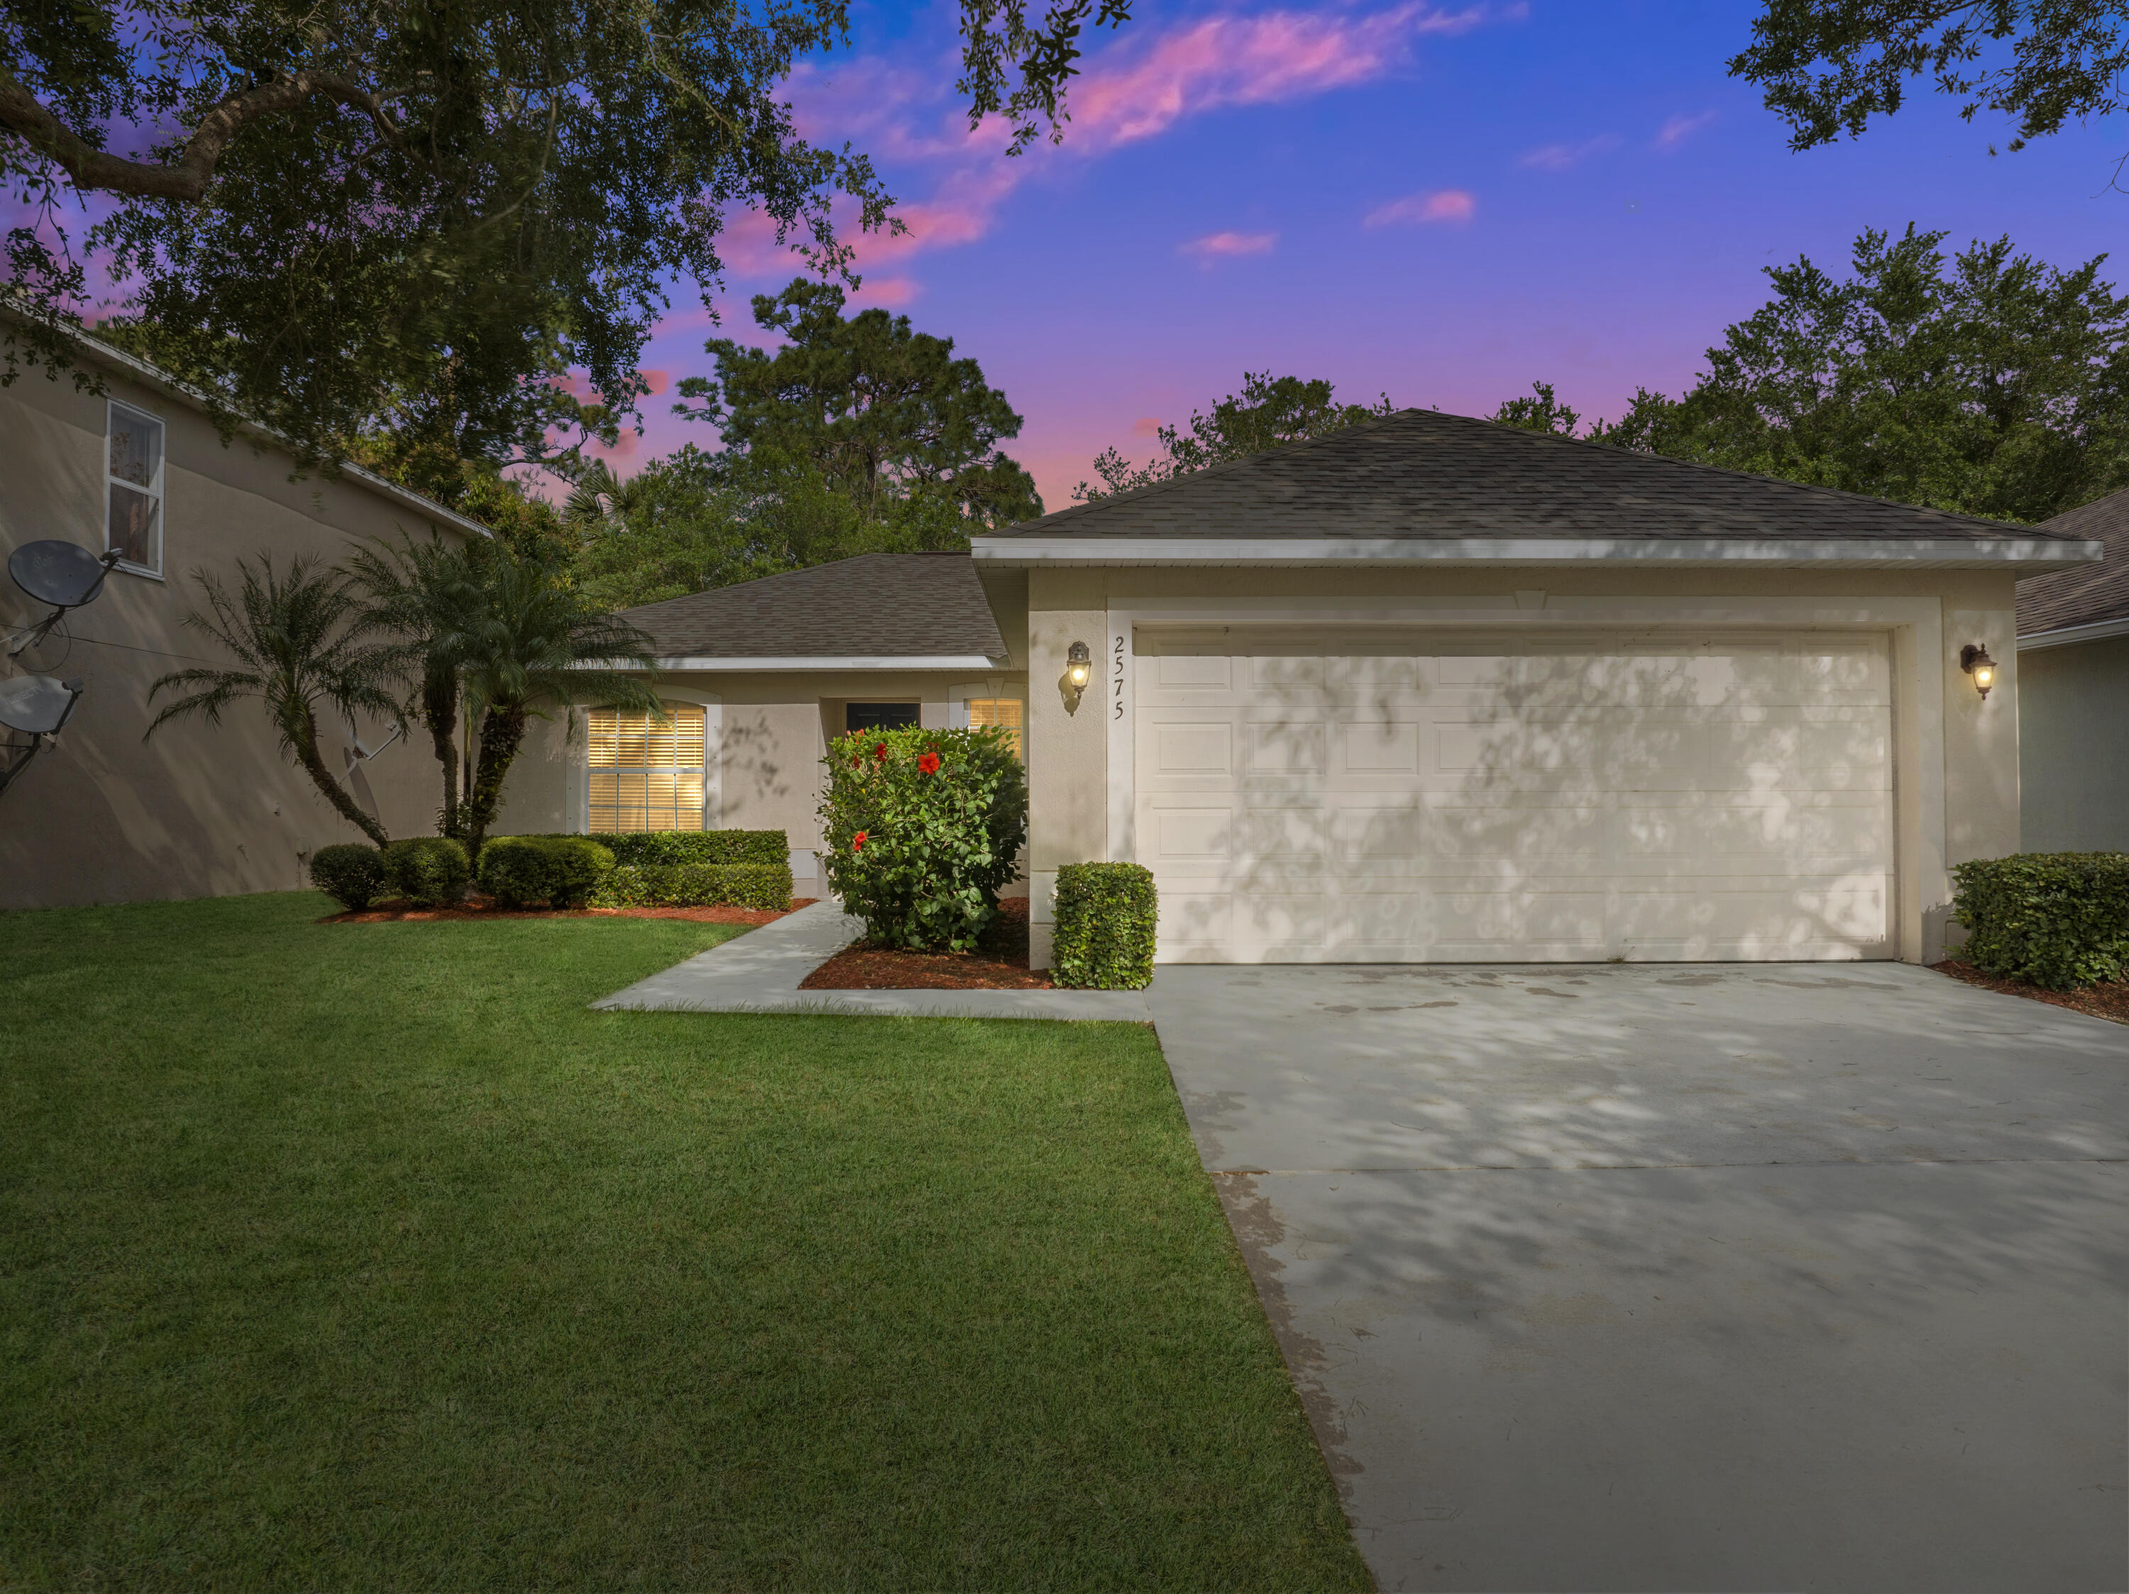
[[[860,553],[622,619],[649,632],[660,658],[1005,658],[967,553]]]

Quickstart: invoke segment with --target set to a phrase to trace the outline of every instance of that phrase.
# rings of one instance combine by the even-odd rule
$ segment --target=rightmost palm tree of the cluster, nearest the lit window
[[[481,711],[481,751],[466,792],[466,849],[479,858],[502,781],[541,704],[600,702],[662,715],[651,638],[528,553],[483,560],[481,613],[449,641],[460,685]]]

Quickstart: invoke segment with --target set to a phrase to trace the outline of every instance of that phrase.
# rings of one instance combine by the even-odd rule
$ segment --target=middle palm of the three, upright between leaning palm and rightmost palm
[[[443,764],[443,809],[436,828],[458,836],[464,813],[458,796],[458,653],[485,607],[483,566],[488,545],[451,547],[430,532],[426,543],[407,538],[405,549],[362,549],[347,564],[366,596],[366,611],[381,628],[396,632],[398,662],[417,677],[407,704],[409,717],[428,728],[430,747]],[[471,785],[471,779],[468,779]]]

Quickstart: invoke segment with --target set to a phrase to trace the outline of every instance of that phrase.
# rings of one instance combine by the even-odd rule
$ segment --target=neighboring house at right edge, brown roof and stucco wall
[[[2023,845],[2129,851],[2129,492],[2042,530],[2108,558],[2018,583]]]

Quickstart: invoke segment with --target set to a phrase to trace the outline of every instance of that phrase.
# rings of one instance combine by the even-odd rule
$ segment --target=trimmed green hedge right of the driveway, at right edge
[[[2048,990],[2129,970],[2129,853],[2012,853],[1954,864],[1959,949],[1976,968]]]

